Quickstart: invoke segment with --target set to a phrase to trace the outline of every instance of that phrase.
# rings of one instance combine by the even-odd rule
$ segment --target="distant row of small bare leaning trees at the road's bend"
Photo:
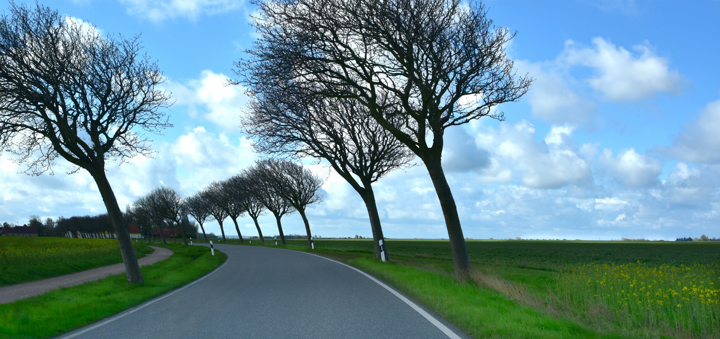
[[[307,245],[312,247],[310,222],[305,210],[322,201],[322,184],[320,177],[298,163],[264,159],[256,161],[253,166],[235,176],[212,182],[187,198],[169,187],[158,187],[135,200],[129,214],[142,230],[162,228],[166,225],[177,228],[187,245],[185,233],[189,225],[188,215],[197,220],[206,241],[204,224],[217,221],[222,240],[226,240],[224,222],[230,217],[240,242],[244,240],[238,218],[247,215],[253,219],[261,243],[265,243],[258,217],[269,211],[275,216],[280,241],[282,245],[286,245],[281,218],[298,212],[305,224]],[[160,234],[164,243],[165,235],[163,232]]]

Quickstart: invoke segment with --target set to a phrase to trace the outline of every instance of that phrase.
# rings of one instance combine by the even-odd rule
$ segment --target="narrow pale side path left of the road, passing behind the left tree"
[[[170,256],[173,255],[173,251],[168,250],[167,248],[157,246],[150,247],[153,248],[155,252],[138,259],[140,266],[152,265],[158,261],[170,258]],[[0,287],[0,304],[7,304],[18,299],[34,297],[53,289],[59,289],[60,287],[75,286],[88,281],[96,281],[106,278],[107,276],[121,274],[123,272],[125,272],[125,264],[116,263],[114,265],[93,268],[91,270],[68,274],[65,276],[55,276],[55,278]]]

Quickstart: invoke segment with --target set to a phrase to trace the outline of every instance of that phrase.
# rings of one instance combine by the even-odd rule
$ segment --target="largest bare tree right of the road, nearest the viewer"
[[[372,117],[418,155],[440,201],[455,274],[470,261],[454,197],[442,168],[446,129],[473,119],[504,119],[495,107],[516,101],[531,79],[518,77],[505,44],[480,2],[460,0],[258,1],[260,38],[236,65],[261,91],[286,81],[361,102]],[[348,90],[349,88],[349,90]],[[387,105],[399,109],[387,111]],[[397,116],[408,122],[398,127]]]

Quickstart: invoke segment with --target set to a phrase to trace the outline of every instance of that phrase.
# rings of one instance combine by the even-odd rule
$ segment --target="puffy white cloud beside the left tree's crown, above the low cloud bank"
[[[240,132],[240,114],[246,107],[245,87],[228,85],[222,73],[202,71],[199,79],[186,83],[166,84],[176,98],[176,105],[186,106],[191,117],[202,116],[225,132]]]

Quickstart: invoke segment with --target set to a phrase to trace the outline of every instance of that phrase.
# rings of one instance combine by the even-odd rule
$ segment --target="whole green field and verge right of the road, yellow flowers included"
[[[720,338],[720,243],[468,240],[473,278],[455,282],[447,240],[388,239],[391,263],[369,256],[372,240],[287,243],[379,276],[475,338]]]

